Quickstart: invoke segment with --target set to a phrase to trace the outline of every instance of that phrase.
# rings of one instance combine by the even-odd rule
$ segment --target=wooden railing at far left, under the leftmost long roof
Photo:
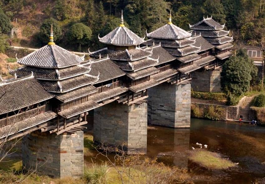
[[[37,107],[35,109],[30,109],[22,113],[18,113],[3,119],[0,119],[0,128],[5,127],[7,125],[17,123],[20,121],[23,121],[24,119],[32,118],[38,114],[44,113],[51,110],[51,105],[46,104],[42,105],[40,107]]]

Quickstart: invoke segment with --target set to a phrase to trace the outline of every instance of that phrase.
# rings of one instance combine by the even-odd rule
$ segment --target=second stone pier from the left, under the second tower
[[[94,141],[122,146],[128,154],[146,153],[147,104],[113,102],[94,109]]]

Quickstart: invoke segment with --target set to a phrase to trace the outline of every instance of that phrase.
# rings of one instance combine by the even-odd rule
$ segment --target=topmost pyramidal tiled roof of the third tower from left
[[[159,27],[155,31],[147,33],[147,37],[177,40],[177,39],[189,38],[190,33],[171,23]]]

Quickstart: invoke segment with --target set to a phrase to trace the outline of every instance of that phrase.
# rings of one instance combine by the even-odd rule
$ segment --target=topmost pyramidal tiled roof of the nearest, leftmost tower
[[[57,45],[46,45],[17,60],[21,65],[41,68],[65,68],[80,64],[83,61],[83,57],[72,54]]]

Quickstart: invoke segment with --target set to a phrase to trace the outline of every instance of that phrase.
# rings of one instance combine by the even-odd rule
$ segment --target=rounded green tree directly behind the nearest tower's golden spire
[[[49,42],[49,36],[51,33],[51,24],[53,28],[53,40],[58,41],[62,37],[62,28],[54,18],[45,19],[41,25],[38,38],[41,42],[41,45],[45,45]]]

